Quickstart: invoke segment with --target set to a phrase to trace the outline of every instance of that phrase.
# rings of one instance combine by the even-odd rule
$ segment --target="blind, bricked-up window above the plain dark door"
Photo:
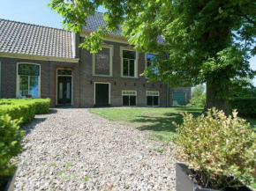
[[[93,75],[112,76],[112,55],[113,46],[104,45],[93,55]]]

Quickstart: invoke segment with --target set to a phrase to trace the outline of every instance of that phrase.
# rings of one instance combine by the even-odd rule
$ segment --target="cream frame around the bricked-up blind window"
[[[96,53],[93,54],[93,76],[94,77],[113,77],[113,55],[114,46],[113,45],[102,45],[102,48],[109,48],[109,75],[95,74],[95,64],[96,64]]]

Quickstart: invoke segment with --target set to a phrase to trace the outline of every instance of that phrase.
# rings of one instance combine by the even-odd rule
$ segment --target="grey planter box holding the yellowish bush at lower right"
[[[210,188],[199,187],[193,183],[188,174],[192,172],[188,169],[187,165],[176,164],[176,190],[177,191],[222,191]],[[226,189],[231,191],[232,189]],[[239,187],[237,191],[252,191],[249,187]]]

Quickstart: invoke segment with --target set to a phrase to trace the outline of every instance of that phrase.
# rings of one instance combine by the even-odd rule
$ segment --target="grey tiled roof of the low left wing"
[[[0,19],[0,53],[74,58],[73,33]]]

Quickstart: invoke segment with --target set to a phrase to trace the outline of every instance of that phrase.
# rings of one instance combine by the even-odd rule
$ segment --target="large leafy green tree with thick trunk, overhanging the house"
[[[144,75],[171,87],[207,84],[205,109],[217,107],[229,114],[231,89],[241,77],[252,78],[248,59],[256,54],[254,0],[51,0],[64,17],[67,30],[80,32],[88,15],[103,5],[106,26],[85,38],[80,46],[101,49],[109,31],[123,28],[123,36],[140,52],[158,52],[157,63]],[[162,37],[164,44],[157,42]],[[167,59],[162,59],[166,53]],[[154,72],[153,68],[158,72]],[[245,84],[245,81],[242,83]]]

